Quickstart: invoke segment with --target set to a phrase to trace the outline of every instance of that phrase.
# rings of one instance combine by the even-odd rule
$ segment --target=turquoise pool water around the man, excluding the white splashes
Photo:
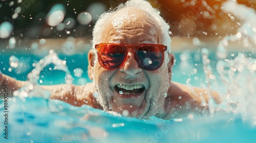
[[[238,53],[232,53],[233,59]],[[12,54],[13,55],[13,54]],[[27,63],[26,68],[12,68],[9,58],[12,55],[0,55],[0,67],[4,74],[18,80],[26,80],[33,69],[33,63],[40,60],[34,55],[14,56],[20,63]],[[184,84],[207,87],[203,62],[200,52],[175,53],[176,65],[173,80]],[[253,57],[253,55],[247,55]],[[67,61],[67,66],[74,77],[74,84],[91,82],[87,77],[87,55],[59,55]],[[217,59],[215,53],[209,54],[212,73]],[[183,62],[183,63],[182,63]],[[187,62],[187,63],[184,63]],[[65,82],[65,73],[49,70],[48,65],[40,73],[39,84],[60,84]],[[81,68],[81,77],[75,76],[74,69]],[[17,74],[18,73],[18,74]],[[82,80],[80,80],[82,79]],[[217,77],[218,79],[218,77]],[[222,92],[222,84],[216,88]],[[223,113],[197,117],[195,115],[174,118],[169,121],[157,117],[137,119],[124,117],[117,113],[108,113],[83,105],[71,106],[58,100],[43,98],[19,98],[8,101],[8,134],[4,125],[4,102],[0,104],[1,138],[0,142],[255,142],[256,127],[246,122],[241,114]],[[220,108],[220,107],[219,107]],[[249,113],[249,112],[248,112]],[[8,139],[4,138],[8,135]]]

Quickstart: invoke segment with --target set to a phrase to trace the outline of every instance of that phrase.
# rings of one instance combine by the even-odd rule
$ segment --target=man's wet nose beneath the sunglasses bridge
[[[126,61],[125,61],[124,65],[122,67],[120,67],[119,70],[122,73],[126,73],[128,75],[134,76],[135,74],[140,73],[140,71],[142,71],[142,68],[139,67],[139,65],[135,59],[134,53],[129,52],[127,54]]]

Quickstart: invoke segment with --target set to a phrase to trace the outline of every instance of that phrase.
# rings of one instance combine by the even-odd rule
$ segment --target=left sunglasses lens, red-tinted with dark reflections
[[[120,45],[105,44],[99,52],[99,62],[106,69],[118,68],[125,58],[125,49]]]

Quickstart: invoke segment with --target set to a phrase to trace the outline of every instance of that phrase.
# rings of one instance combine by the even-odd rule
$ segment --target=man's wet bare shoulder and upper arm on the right
[[[165,119],[184,117],[188,113],[202,115],[209,112],[208,100],[211,96],[217,104],[221,103],[218,92],[172,82],[165,99]]]

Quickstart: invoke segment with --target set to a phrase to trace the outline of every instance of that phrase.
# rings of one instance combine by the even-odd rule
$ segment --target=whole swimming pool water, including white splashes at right
[[[174,53],[177,58],[174,81],[222,94],[224,101],[221,105],[209,102],[209,115],[190,114],[169,121],[156,117],[137,119],[87,105],[75,107],[47,98],[16,97],[8,101],[8,106],[1,100],[0,120],[4,122],[0,122],[0,142],[256,142],[255,46],[248,53],[243,47],[241,52],[227,53],[228,57],[222,55],[229,41],[245,37],[245,43],[251,40],[256,45],[255,11],[247,7],[234,9],[234,4],[223,5],[223,8],[241,20],[236,35],[223,38],[217,51],[201,47],[199,51]],[[228,16],[233,19],[230,13]],[[9,46],[14,48],[11,39]],[[246,45],[248,48],[248,43]],[[58,54],[58,57],[67,64],[74,84],[90,82],[86,72],[86,53]],[[26,80],[41,58],[28,53],[1,53],[0,67],[4,74]],[[49,64],[40,72],[38,83],[64,83],[65,76],[65,72],[55,70],[55,66]],[[48,96],[43,90],[36,93]]]

